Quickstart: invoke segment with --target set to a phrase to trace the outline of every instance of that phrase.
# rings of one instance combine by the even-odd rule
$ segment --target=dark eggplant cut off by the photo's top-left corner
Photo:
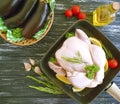
[[[0,0],[0,17],[7,18],[18,10],[23,0]]]

